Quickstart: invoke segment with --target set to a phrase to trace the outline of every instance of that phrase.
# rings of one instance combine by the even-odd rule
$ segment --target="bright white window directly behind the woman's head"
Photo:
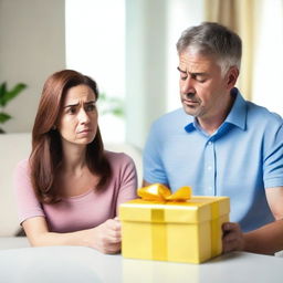
[[[124,99],[124,0],[65,0],[65,34],[66,67],[93,77],[106,96]],[[124,142],[124,124],[123,118],[101,115],[104,142]]]

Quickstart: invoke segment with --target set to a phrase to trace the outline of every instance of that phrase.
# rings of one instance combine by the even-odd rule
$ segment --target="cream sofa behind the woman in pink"
[[[128,144],[107,144],[105,148],[113,151],[126,153],[134,159],[140,185],[142,151]],[[19,230],[13,193],[13,170],[19,160],[29,157],[30,151],[30,133],[0,135],[0,237],[2,238],[13,237]],[[10,241],[13,240],[11,239]],[[4,247],[0,241],[1,248]]]

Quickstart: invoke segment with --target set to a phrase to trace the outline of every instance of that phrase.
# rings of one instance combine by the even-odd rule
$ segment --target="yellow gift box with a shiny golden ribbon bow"
[[[144,199],[120,205],[123,256],[201,263],[220,254],[229,198],[190,197],[189,187],[174,195],[168,191],[155,184],[139,189]]]

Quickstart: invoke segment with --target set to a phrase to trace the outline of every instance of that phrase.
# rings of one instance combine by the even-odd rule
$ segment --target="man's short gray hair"
[[[242,41],[237,33],[219,23],[202,22],[185,30],[177,42],[179,55],[188,48],[205,56],[214,56],[222,75],[231,66],[237,66],[240,71]]]

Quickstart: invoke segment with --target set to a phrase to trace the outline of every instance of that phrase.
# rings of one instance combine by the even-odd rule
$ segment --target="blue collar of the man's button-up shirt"
[[[241,93],[237,87],[232,88],[231,95],[235,96],[233,106],[228,114],[226,120],[223,124],[232,124],[235,125],[237,127],[241,128],[242,130],[245,130],[247,128],[247,102],[242,97]],[[186,132],[190,133],[193,132],[195,129],[199,128],[198,122],[195,117],[189,116],[189,123],[188,123],[188,117],[186,119],[186,125],[185,129]]]

